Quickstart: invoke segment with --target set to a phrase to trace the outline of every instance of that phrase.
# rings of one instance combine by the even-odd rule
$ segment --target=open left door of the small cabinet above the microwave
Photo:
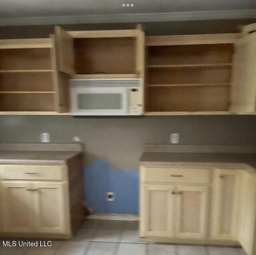
[[[59,26],[55,30],[55,47],[57,70],[71,76],[74,75],[74,46],[73,38]]]

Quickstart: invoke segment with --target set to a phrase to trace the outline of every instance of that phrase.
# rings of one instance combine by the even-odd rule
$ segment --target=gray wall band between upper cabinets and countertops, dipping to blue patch
[[[85,144],[86,163],[101,158],[116,169],[138,169],[143,143],[168,143],[180,133],[182,144],[256,144],[256,116],[170,116],[83,118],[0,116],[0,142],[38,142],[49,132],[53,142]]]

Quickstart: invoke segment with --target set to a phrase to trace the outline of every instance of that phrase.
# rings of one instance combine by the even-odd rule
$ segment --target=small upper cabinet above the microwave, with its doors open
[[[144,78],[144,32],[55,27],[58,70],[72,78]]]

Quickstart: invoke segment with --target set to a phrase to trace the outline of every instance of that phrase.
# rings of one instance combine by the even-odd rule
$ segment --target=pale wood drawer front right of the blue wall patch
[[[142,181],[208,183],[209,168],[145,167]]]

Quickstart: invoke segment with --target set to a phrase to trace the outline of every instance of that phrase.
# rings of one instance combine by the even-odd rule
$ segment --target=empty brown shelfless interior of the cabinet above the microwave
[[[136,73],[135,38],[75,38],[75,73],[78,75]]]

